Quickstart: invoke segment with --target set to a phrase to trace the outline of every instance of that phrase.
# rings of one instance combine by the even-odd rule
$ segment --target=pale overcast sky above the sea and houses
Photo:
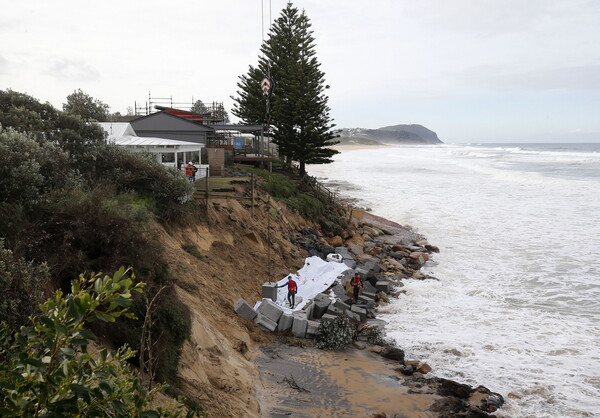
[[[286,0],[0,0],[0,89],[126,113],[224,102]],[[296,0],[340,128],[445,142],[600,142],[598,0]],[[233,118],[235,120],[235,118]]]

